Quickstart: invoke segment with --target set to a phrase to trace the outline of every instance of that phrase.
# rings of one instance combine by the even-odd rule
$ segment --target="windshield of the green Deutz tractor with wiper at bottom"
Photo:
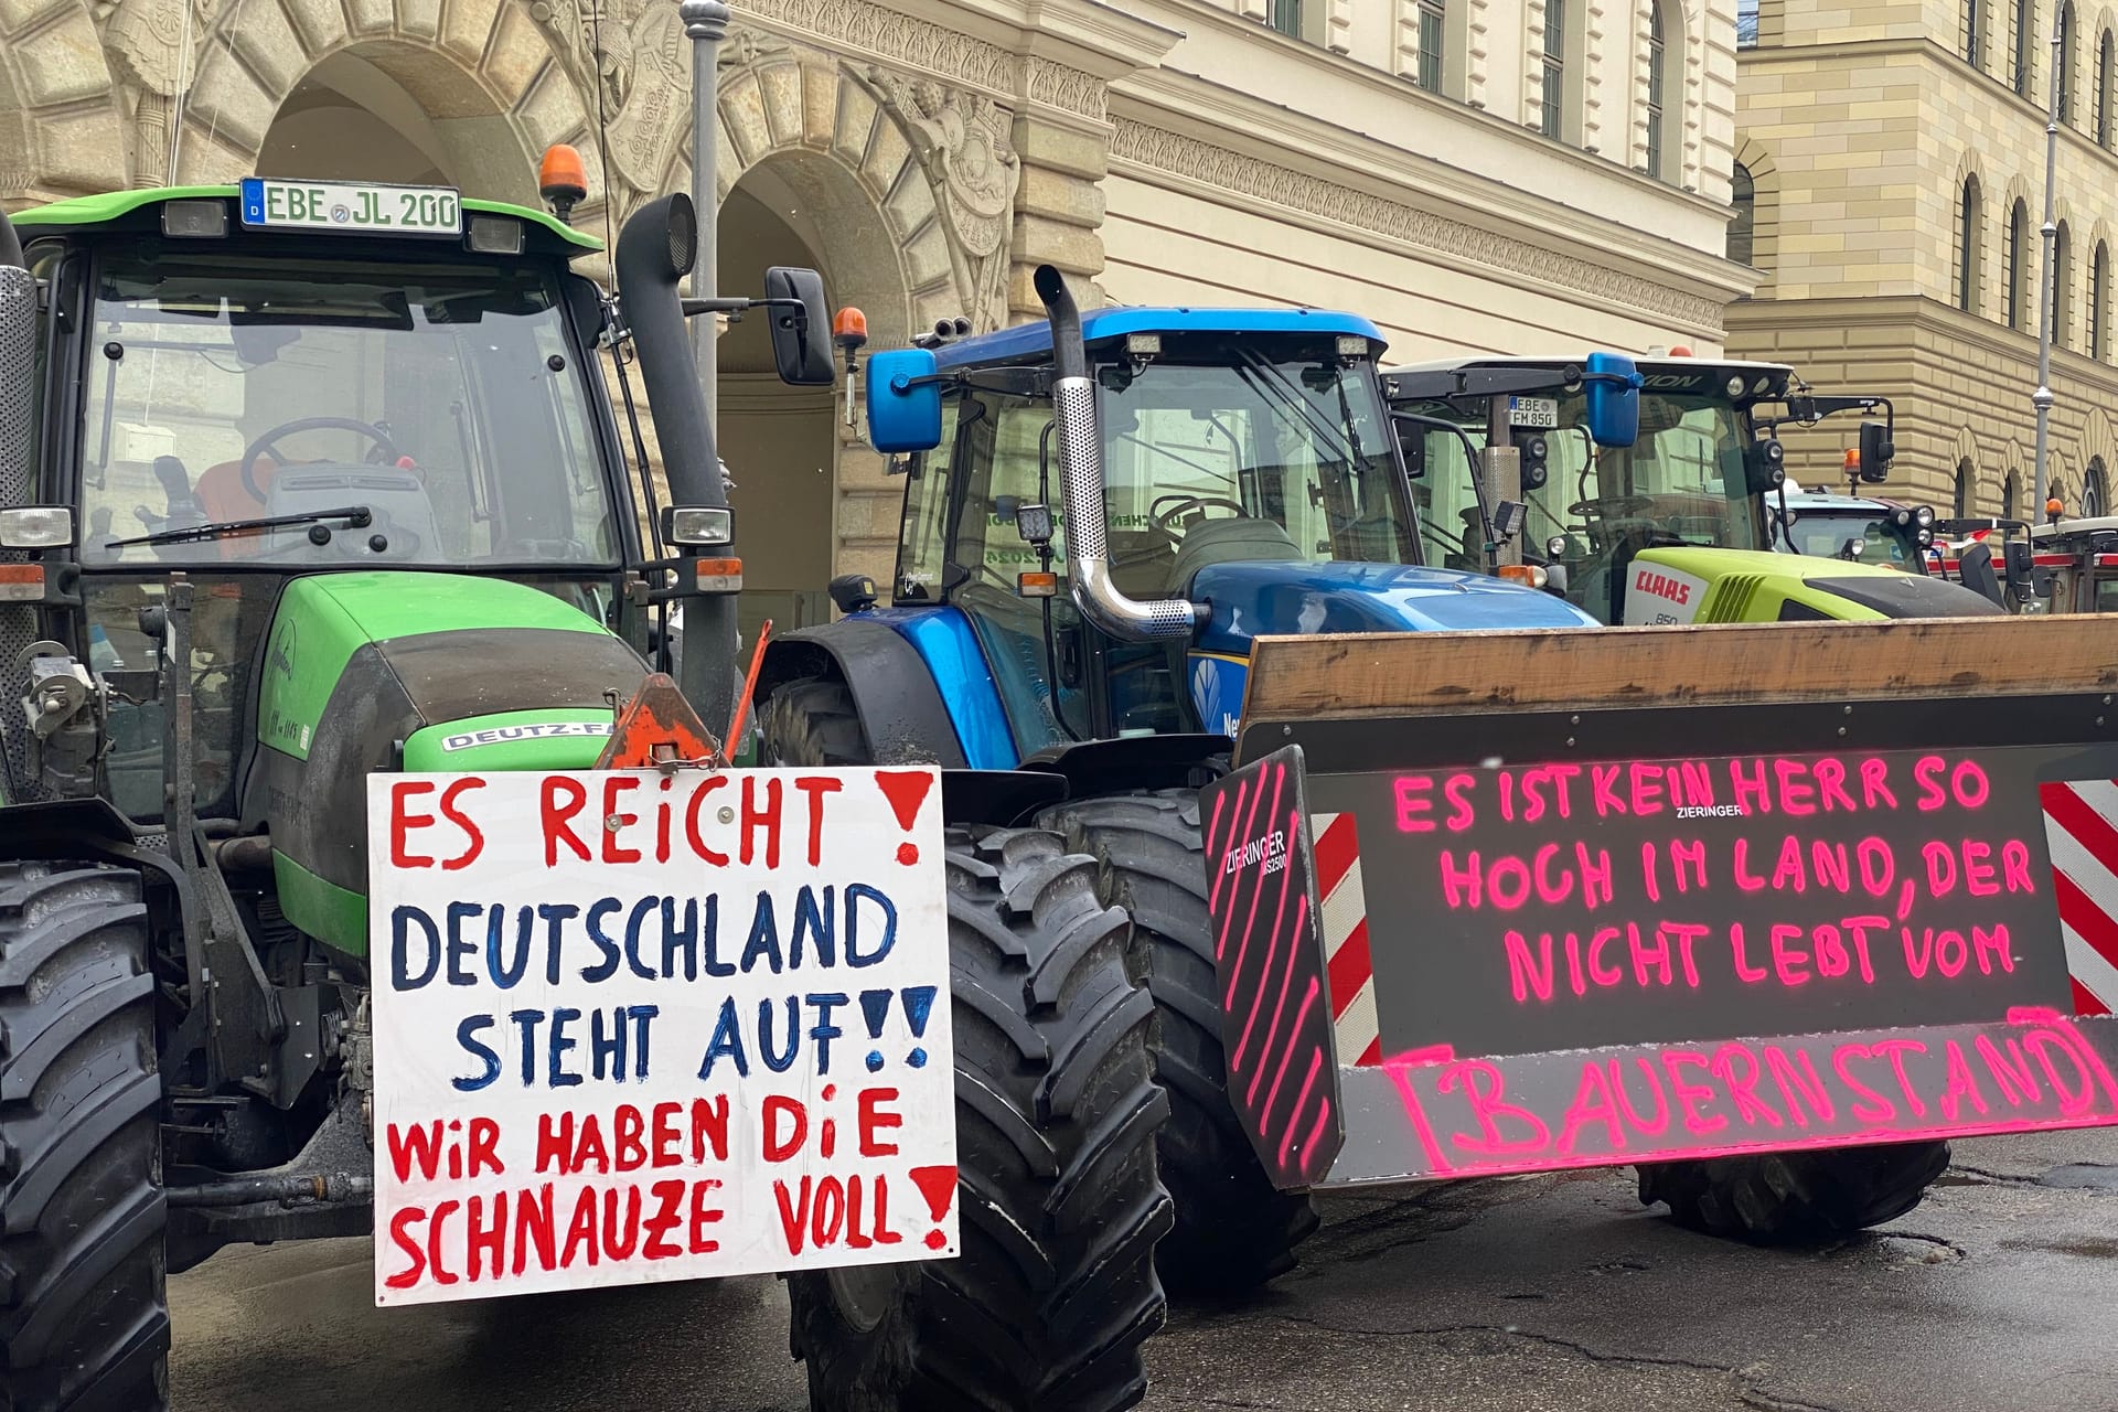
[[[106,258],[83,563],[614,567],[557,301],[534,267]],[[169,542],[112,546],[142,536]]]

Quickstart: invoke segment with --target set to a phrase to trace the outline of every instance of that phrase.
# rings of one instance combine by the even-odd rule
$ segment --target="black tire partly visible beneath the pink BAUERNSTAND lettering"
[[[1639,1169],[1639,1200],[1709,1236],[1809,1245],[1904,1215],[1946,1166],[1934,1141],[1658,1162]]]

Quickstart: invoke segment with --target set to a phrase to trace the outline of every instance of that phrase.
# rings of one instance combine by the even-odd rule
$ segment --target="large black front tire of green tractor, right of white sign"
[[[1169,1196],[1152,1001],[1095,864],[949,830],[959,1255],[788,1277],[818,1412],[1116,1412],[1146,1395]]]

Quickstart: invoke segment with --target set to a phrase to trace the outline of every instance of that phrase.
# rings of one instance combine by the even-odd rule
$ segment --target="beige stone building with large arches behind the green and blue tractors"
[[[1735,0],[735,0],[720,279],[809,263],[875,345],[1091,298],[1368,313],[1394,356],[1720,347]],[[674,0],[0,0],[0,201],[248,174],[536,203],[688,188]],[[887,578],[898,483],[722,339],[750,584]]]

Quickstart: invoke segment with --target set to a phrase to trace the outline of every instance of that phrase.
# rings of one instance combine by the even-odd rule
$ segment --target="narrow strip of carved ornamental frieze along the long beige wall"
[[[1722,307],[1605,265],[1552,254],[1508,235],[1480,231],[1434,212],[1387,201],[1366,191],[1339,186],[1292,167],[1279,167],[1228,148],[1118,119],[1110,155],[1159,171],[1220,186],[1288,210],[1339,220],[1362,231],[1419,246],[1436,254],[1476,260],[1500,271],[1533,275],[1597,298],[1614,298],[1692,328],[1720,328]]]

